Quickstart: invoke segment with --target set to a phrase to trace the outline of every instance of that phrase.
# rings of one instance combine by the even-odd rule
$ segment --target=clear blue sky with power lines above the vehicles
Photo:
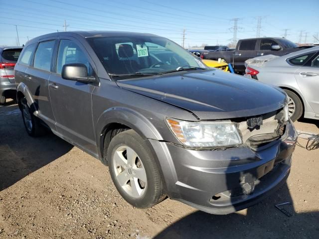
[[[121,30],[158,34],[185,47],[237,39],[284,36],[301,43],[319,34],[319,0],[0,0],[0,45],[20,45],[38,35],[67,30]],[[307,38],[306,38],[307,34]]]

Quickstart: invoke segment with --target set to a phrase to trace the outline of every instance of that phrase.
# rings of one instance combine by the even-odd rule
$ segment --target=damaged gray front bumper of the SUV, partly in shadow
[[[297,134],[289,122],[280,139],[256,150],[191,150],[150,141],[170,198],[207,213],[229,214],[256,204],[284,184]]]

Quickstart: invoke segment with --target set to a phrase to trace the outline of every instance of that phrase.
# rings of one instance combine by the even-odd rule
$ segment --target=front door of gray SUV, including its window
[[[91,154],[96,154],[95,133],[92,119],[91,94],[94,86],[62,79],[64,64],[83,63],[93,75],[92,61],[85,48],[75,39],[61,39],[56,67],[49,79],[49,92],[57,132]]]

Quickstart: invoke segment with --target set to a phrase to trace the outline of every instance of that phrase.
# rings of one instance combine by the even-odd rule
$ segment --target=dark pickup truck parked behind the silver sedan
[[[237,42],[235,51],[204,52],[203,59],[218,60],[218,58],[222,58],[232,64],[235,73],[243,75],[247,59],[269,54],[283,56],[309,47],[312,46],[299,47],[297,44],[279,37],[242,39]]]

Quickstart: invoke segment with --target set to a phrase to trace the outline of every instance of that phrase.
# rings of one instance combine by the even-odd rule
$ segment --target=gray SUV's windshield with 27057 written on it
[[[162,74],[180,69],[206,68],[176,43],[157,36],[93,37],[88,39],[110,74]]]

